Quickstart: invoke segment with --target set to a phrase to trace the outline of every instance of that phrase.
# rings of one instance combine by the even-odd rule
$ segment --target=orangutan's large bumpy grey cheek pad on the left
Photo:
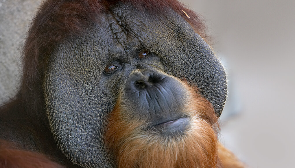
[[[51,56],[44,81],[47,117],[58,147],[72,162],[111,167],[103,134],[116,100],[102,83],[97,67],[103,61],[83,45],[70,41]]]

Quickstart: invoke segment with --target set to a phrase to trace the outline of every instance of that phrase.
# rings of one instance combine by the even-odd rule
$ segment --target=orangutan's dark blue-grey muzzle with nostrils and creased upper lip
[[[176,119],[187,99],[187,90],[178,80],[153,71],[132,72],[124,90],[123,102],[158,124]]]

